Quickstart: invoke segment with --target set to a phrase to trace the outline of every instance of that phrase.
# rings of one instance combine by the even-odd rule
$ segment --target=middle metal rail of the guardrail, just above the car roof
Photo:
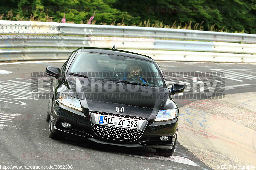
[[[112,44],[123,49],[256,54],[256,44],[161,40],[154,38],[0,35],[0,48],[77,48],[80,46],[110,48]]]

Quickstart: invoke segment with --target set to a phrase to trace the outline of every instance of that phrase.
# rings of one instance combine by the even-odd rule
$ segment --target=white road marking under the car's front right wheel
[[[119,153],[119,154],[121,154],[121,153]],[[138,157],[138,158],[146,158],[146,159],[169,160],[169,161],[178,162],[178,163],[182,163],[182,164],[198,166],[192,160],[189,160],[189,159],[187,159],[185,157],[181,157],[181,156],[174,156],[174,155],[172,155],[171,157],[164,157],[164,156],[157,156],[156,155],[154,157],[148,157],[148,156],[139,156],[139,155],[132,155],[132,154],[124,154],[124,155]]]

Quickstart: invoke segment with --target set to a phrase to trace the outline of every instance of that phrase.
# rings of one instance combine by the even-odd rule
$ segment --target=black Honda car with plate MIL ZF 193
[[[150,57],[107,48],[78,48],[61,69],[47,67],[51,93],[49,137],[156,148],[173,154],[178,107],[159,65]]]

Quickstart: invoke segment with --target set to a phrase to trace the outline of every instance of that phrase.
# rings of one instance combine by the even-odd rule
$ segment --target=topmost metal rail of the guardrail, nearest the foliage
[[[59,34],[116,37],[150,37],[181,40],[256,43],[256,35],[210,31],[152,28],[136,26],[109,26],[68,24],[55,22],[0,21],[0,34]]]

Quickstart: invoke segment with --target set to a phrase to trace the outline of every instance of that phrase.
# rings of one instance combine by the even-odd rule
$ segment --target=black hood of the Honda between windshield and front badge
[[[66,75],[66,79],[73,85],[74,91],[76,91],[75,97],[80,100],[88,100],[87,103],[94,105],[95,109],[97,109],[97,105],[107,108],[108,103],[160,109],[166,95],[169,96],[169,89],[163,87],[115,83],[71,75]]]

